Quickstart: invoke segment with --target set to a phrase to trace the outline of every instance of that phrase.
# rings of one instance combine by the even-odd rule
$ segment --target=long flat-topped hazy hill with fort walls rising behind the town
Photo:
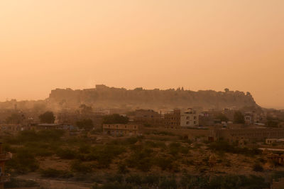
[[[89,104],[93,107],[132,107],[132,108],[187,108],[203,107],[206,109],[241,108],[257,106],[249,92],[214,90],[191,91],[177,90],[126,90],[124,88],[96,85],[94,89],[71,90],[56,89],[47,99],[50,104],[60,104],[65,107],[78,107]]]

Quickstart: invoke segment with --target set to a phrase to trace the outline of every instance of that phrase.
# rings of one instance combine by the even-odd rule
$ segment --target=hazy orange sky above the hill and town
[[[283,0],[1,0],[0,101],[96,84],[229,87],[283,108],[283,10]]]

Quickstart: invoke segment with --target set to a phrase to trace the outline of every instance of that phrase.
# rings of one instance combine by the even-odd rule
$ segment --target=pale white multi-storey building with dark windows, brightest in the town
[[[199,114],[194,109],[187,109],[180,112],[180,126],[198,126]]]

